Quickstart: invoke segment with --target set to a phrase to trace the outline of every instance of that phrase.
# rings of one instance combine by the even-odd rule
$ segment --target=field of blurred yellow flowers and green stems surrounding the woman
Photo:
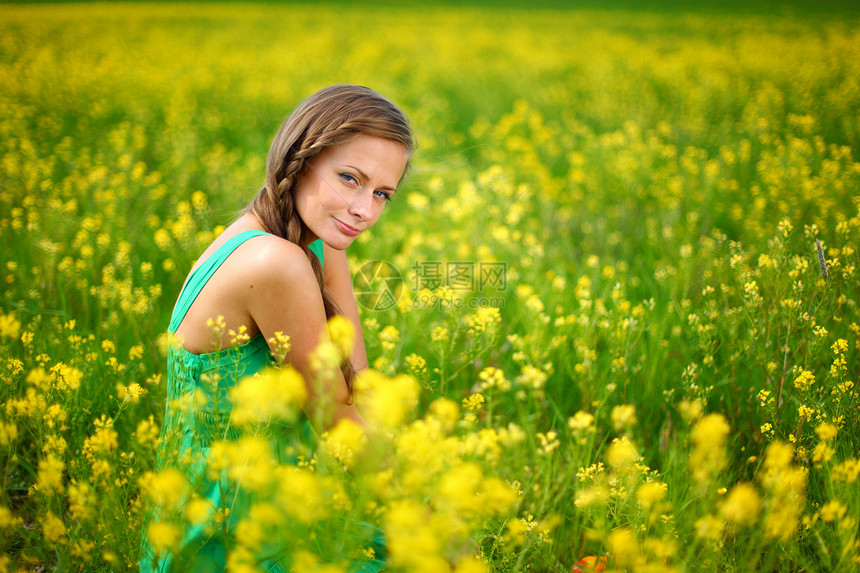
[[[0,6],[0,571],[860,568],[860,12],[705,4]],[[349,251],[371,424],[275,447],[284,368],[156,467],[183,280],[333,83],[419,143]]]

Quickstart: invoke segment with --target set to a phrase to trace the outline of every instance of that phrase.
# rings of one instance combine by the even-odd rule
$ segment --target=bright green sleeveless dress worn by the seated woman
[[[245,231],[230,238],[206,261],[201,263],[185,282],[168,331],[175,333],[185,318],[188,309],[200,291],[233,251],[245,241],[264,235],[262,231]],[[323,261],[322,241],[310,245],[311,250]],[[159,469],[178,465],[184,471],[191,491],[206,498],[216,509],[229,507],[227,530],[232,532],[242,519],[243,508],[250,505],[248,494],[231,489],[226,478],[213,480],[207,476],[205,460],[211,444],[219,432],[218,439],[225,436],[223,429],[230,416],[229,391],[245,376],[253,375],[266,366],[275,364],[265,337],[258,334],[248,342],[216,352],[192,354],[181,347],[171,345],[167,359],[167,406],[161,427],[162,445],[159,449]],[[216,382],[213,382],[216,381]],[[183,398],[189,398],[195,390],[202,390],[205,402],[202,407],[182,409],[175,407]],[[312,453],[313,432],[309,422],[303,419],[292,427],[282,427],[275,437],[275,451],[280,463],[296,463],[299,450]],[[228,429],[228,432],[230,430]],[[236,437],[228,434],[228,439]],[[226,495],[225,493],[226,492]],[[352,570],[375,573],[385,568],[385,538],[381,531],[371,528],[373,554],[382,559],[365,559],[353,563]],[[223,535],[213,532],[206,524],[191,526],[183,536],[176,552],[156,554],[149,544],[146,528],[143,531],[140,570],[142,572],[221,572],[225,570],[225,543]],[[230,535],[230,533],[228,533]],[[289,564],[273,559],[262,559],[259,568],[263,571],[283,572]]]

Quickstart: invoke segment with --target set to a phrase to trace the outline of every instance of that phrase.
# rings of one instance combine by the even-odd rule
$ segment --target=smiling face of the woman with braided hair
[[[372,135],[329,147],[299,179],[295,205],[307,227],[305,244],[322,239],[344,250],[371,228],[406,168],[402,143]]]

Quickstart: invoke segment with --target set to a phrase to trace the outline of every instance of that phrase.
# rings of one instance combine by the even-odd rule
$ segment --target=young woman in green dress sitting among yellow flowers
[[[223,481],[206,475],[208,448],[220,437],[213,428],[220,431],[229,417],[229,389],[275,362],[275,333],[289,336],[284,361],[310,380],[310,354],[328,340],[327,319],[343,314],[353,323],[356,344],[343,376],[322,389],[307,387],[310,408],[329,404],[325,416],[306,413],[323,419],[323,426],[342,418],[362,423],[352,401],[352,379],[367,366],[367,357],[345,250],[379,220],[413,147],[405,114],[373,90],[338,85],[319,91],[278,130],[265,186],[192,269],[168,329],[182,346],[172,348],[168,358],[162,439],[171,445],[162,446],[168,451],[160,465],[184,456],[189,473],[187,460],[199,460],[197,471],[191,464],[188,479],[214,510],[241,504],[234,493],[225,494]],[[223,328],[213,336],[216,317],[223,317]],[[247,341],[237,344],[229,332],[242,327]],[[202,407],[172,407],[196,390],[205,396]],[[231,526],[239,518],[234,511]],[[155,554],[144,543],[141,570],[223,571],[229,540],[218,529],[192,527],[176,552]],[[384,566],[373,561],[360,569]],[[272,570],[279,570],[276,564]]]

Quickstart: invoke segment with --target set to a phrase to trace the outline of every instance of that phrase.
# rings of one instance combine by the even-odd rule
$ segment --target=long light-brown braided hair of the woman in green
[[[307,228],[295,209],[294,193],[317,155],[359,135],[402,143],[408,166],[415,142],[406,114],[397,106],[362,86],[335,85],[318,91],[281,124],[269,148],[266,184],[246,209],[257,216],[267,232],[299,245],[305,252],[319,283],[326,319],[342,312],[325,288],[319,259],[303,243]],[[342,370],[352,395],[355,371],[349,359],[344,360]]]

